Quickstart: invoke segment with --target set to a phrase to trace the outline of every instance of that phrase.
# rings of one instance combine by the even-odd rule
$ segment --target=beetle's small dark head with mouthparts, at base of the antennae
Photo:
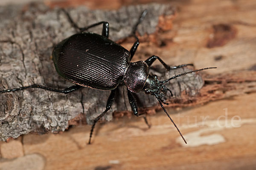
[[[143,90],[145,94],[163,98],[169,89],[165,85],[160,84],[156,75],[148,75]]]

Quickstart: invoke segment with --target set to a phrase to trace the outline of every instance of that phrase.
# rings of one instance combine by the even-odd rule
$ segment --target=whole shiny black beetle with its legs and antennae
[[[79,31],[79,33],[72,35],[58,43],[52,51],[52,58],[58,74],[65,80],[70,81],[76,85],[70,86],[64,90],[59,90],[33,84],[31,86],[23,86],[16,89],[2,90],[0,93],[15,92],[17,90],[28,88],[40,88],[65,94],[73,92],[82,87],[90,87],[99,90],[111,90],[106,109],[97,118],[94,119],[90,131],[89,144],[91,143],[91,137],[95,124],[111,108],[111,105],[115,99],[116,89],[119,85],[124,84],[127,86],[128,99],[134,115],[138,116],[138,109],[133,93],[140,91],[144,91],[145,94],[154,95],[159,101],[160,106],[163,108],[164,112],[166,112],[166,109],[163,107],[163,104],[166,104],[163,102],[163,97],[168,91],[171,92],[171,90],[164,85],[166,82],[180,77],[181,75],[198,72],[204,69],[216,68],[208,67],[204,69],[193,70],[175,75],[168,80],[159,81],[156,75],[149,75],[148,73],[149,67],[154,61],[156,61],[156,59],[158,59],[168,70],[177,69],[192,64],[168,66],[155,55],[152,55],[145,61],[137,61],[134,63],[130,62],[139,46],[139,39],[135,35],[135,32],[137,31],[137,26],[140,22],[143,21],[145,15],[147,14],[146,10],[141,14],[140,19],[132,31],[131,36],[134,36],[136,41],[131,47],[130,51],[108,39],[108,22],[102,21],[85,28],[79,28],[76,23],[73,22],[70,15],[65,10],[62,11],[67,15],[70,23],[75,29]],[[100,24],[103,24],[102,35],[85,32],[87,29],[98,26]],[[180,133],[180,130],[167,112],[166,115],[170,118],[177,131]],[[146,119],[145,122],[147,123]],[[180,136],[186,143],[186,140],[181,133]]]

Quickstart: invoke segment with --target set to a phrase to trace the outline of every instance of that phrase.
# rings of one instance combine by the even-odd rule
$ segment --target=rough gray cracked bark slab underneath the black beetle
[[[115,11],[92,11],[86,7],[67,11],[81,27],[102,20],[108,21],[110,39],[120,40],[131,34],[134,24],[145,9],[148,9],[148,14],[138,28],[140,35],[154,33],[158,17],[172,15],[175,12],[171,6],[160,4],[128,6]],[[100,34],[102,26],[89,31]],[[44,4],[33,4],[26,8],[0,7],[0,90],[31,84],[41,84],[55,89],[72,86],[73,84],[55,72],[50,56],[55,44],[74,33],[75,29],[60,9],[49,9]],[[189,69],[166,72],[163,66],[157,66],[151,73],[164,80],[186,71]],[[203,84],[200,75],[189,74],[167,83],[166,86],[172,90],[175,98],[179,98],[184,91],[188,95],[196,95]],[[92,124],[93,119],[105,109],[109,93],[89,88],[79,89],[67,95],[43,89],[2,93],[0,140],[17,138],[29,132],[43,134],[64,131],[68,128],[69,121],[78,115],[85,115],[87,124]],[[154,96],[140,92],[136,97],[140,109],[158,105]],[[166,98],[171,98],[170,94]],[[126,87],[119,86],[111,110],[102,119],[111,121],[113,112],[127,111],[131,112]]]

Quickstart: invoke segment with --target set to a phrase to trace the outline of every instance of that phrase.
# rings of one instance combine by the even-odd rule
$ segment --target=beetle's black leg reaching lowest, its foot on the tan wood
[[[107,105],[106,105],[106,109],[97,117],[93,120],[93,126],[91,128],[91,131],[90,131],[90,139],[89,139],[89,143],[91,143],[91,138],[92,138],[92,135],[93,135],[93,129],[95,127],[95,124],[99,121],[100,118],[102,118],[106,112],[108,112],[108,110],[111,108],[112,104],[113,104],[113,101],[115,99],[115,95],[116,95],[116,89],[113,89],[111,90],[111,93],[108,97],[108,101],[107,101]]]

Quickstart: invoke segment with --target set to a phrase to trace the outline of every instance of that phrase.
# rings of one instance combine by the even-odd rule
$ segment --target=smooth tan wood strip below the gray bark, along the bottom
[[[0,162],[0,167],[18,169],[24,164],[27,167],[43,164],[44,170],[253,170],[256,166],[255,100],[255,93],[239,95],[232,100],[218,100],[172,114],[188,140],[186,146],[166,115],[159,113],[150,116],[150,129],[143,118],[136,117],[98,124],[90,145],[87,144],[90,126],[86,125],[58,135],[24,135],[24,156]],[[225,115],[224,108],[228,108],[228,124],[224,125],[222,117],[218,127],[214,123],[220,115]],[[169,112],[174,111],[169,109]],[[232,117],[237,115],[241,121],[234,122],[236,127],[232,127]],[[12,140],[10,144],[13,143]]]

